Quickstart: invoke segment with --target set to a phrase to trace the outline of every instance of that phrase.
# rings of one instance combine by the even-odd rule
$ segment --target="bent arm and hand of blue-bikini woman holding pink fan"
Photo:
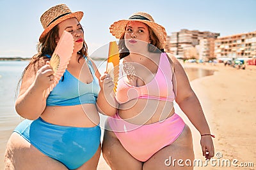
[[[15,110],[21,117],[30,120],[40,117],[46,106],[44,90],[53,83],[49,77],[53,73],[49,62],[38,69],[37,73],[35,73],[35,66],[28,67],[22,78],[19,96],[15,102]]]

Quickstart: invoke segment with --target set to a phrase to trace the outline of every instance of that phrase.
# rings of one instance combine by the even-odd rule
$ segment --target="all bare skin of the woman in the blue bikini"
[[[74,37],[74,52],[72,53],[71,60],[68,64],[67,70],[77,79],[83,83],[91,83],[93,80],[92,73],[85,64],[84,59],[80,59],[77,52],[81,50],[84,42],[84,32],[76,18],[69,18],[64,20],[59,27],[59,37],[63,31],[70,32]],[[59,38],[56,38],[58,43]],[[45,59],[45,61],[48,59]],[[91,60],[92,61],[92,60]],[[100,78],[100,73],[93,63],[93,69],[96,71],[95,75]],[[47,89],[54,78],[52,67],[49,61],[45,66],[42,66],[36,74],[34,69],[28,69],[20,87],[20,93],[15,103],[17,113],[24,118],[35,120],[42,117],[46,122],[56,125],[72,126],[72,127],[95,127],[99,124],[99,113],[97,105],[83,104],[75,106],[46,106],[46,99],[44,98],[44,90]],[[106,76],[108,77],[108,76]],[[111,81],[111,80],[109,80]],[[113,84],[113,83],[112,83]],[[102,82],[100,84],[104,86]],[[113,87],[110,87],[113,89]],[[26,101],[26,102],[24,102]],[[97,102],[102,102],[99,98]],[[33,103],[33,104],[31,104]],[[60,139],[61,140],[61,139]],[[93,155],[93,157],[85,162],[83,166],[77,168],[83,169],[97,169],[97,164],[100,157],[100,146]],[[13,152],[15,154],[13,154]],[[83,156],[83,155],[81,155]],[[26,139],[22,138],[19,134],[13,133],[6,146],[5,155],[6,168],[8,170],[19,167],[19,169],[67,169],[61,162],[48,157],[40,152]]]

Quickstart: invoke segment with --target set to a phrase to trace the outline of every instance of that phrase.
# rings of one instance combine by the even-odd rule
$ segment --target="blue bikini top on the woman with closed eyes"
[[[51,58],[50,55],[46,56]],[[92,62],[87,57],[84,57],[84,59],[86,59],[86,63],[88,63],[88,67],[92,73],[92,83],[83,83],[66,69],[59,83],[47,97],[46,106],[74,106],[78,104],[96,103],[100,91],[99,81],[95,76]]]

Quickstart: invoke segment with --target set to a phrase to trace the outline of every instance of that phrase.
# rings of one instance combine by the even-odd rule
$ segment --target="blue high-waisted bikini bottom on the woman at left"
[[[14,130],[40,152],[76,169],[90,160],[100,145],[100,127],[68,127],[38,118],[23,120]]]

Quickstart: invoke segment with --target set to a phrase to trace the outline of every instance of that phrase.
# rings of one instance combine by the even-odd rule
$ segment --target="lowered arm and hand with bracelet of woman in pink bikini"
[[[179,104],[180,109],[186,114],[190,122],[200,132],[200,134],[211,134],[209,125],[202,110],[202,106],[196,97],[195,92],[191,89],[188,76],[180,62],[172,55],[175,74],[173,76],[173,87],[175,88],[175,101]],[[214,146],[211,136],[202,136],[201,146],[203,155],[210,159],[214,156]],[[206,152],[209,152],[207,154]]]

